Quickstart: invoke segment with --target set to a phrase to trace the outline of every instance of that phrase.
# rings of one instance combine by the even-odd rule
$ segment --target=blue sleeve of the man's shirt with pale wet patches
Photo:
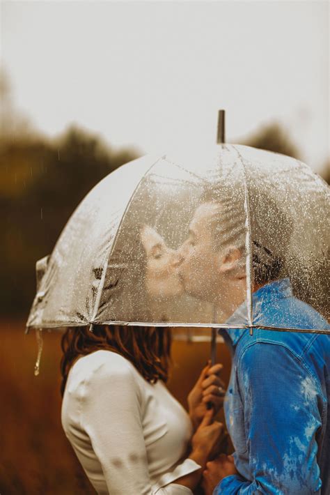
[[[320,494],[317,380],[291,351],[266,343],[246,349],[236,373],[252,479],[223,478],[214,495]]]

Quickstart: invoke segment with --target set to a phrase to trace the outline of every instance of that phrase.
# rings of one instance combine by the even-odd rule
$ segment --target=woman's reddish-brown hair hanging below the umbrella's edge
[[[171,330],[164,327],[94,325],[67,328],[61,340],[61,395],[74,360],[94,351],[113,351],[129,360],[150,383],[168,380]]]

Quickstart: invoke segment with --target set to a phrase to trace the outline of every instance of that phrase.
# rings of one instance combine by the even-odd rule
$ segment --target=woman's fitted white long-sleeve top
[[[162,381],[148,383],[123,356],[95,351],[74,363],[61,419],[97,493],[192,494],[174,482],[201,467],[181,462],[189,416]]]

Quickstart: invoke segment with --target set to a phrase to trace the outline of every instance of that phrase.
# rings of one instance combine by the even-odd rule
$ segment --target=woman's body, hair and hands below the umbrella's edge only
[[[212,416],[222,403],[221,365],[201,373],[188,416],[164,386],[168,329],[73,328],[62,347],[63,429],[97,493],[192,494],[217,454],[222,425]]]

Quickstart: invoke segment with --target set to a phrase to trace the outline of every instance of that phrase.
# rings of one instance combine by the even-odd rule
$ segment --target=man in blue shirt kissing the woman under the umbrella
[[[267,208],[272,208],[268,200]],[[262,208],[256,209],[262,215]],[[233,326],[242,325],[244,318],[249,325],[240,214],[244,212],[237,210],[228,217],[223,202],[206,200],[180,250],[187,293],[213,303],[219,317],[231,312],[227,322]],[[330,327],[311,306],[294,298],[289,278],[281,275],[288,249],[281,213],[275,236],[281,247],[275,253],[271,236],[268,245],[260,242],[269,218],[250,219],[255,234],[250,318],[261,328],[253,335],[239,328],[222,332],[233,353],[225,413],[235,452],[207,464],[205,495],[330,494],[330,335],[262,326]],[[236,234],[230,236],[233,229]]]

